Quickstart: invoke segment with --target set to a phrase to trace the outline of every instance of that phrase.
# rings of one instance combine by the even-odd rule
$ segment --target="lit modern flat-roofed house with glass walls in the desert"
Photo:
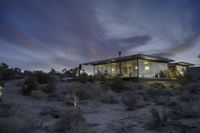
[[[186,62],[173,62],[174,60],[164,57],[135,54],[83,65],[92,65],[94,75],[132,79],[175,79],[179,75],[184,76],[187,68],[193,65]]]

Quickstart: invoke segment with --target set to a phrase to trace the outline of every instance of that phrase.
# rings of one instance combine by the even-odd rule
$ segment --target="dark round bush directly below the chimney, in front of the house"
[[[121,92],[123,90],[125,90],[125,82],[124,80],[120,79],[120,78],[116,78],[114,79],[111,83],[110,83],[110,87],[113,91],[115,92]]]

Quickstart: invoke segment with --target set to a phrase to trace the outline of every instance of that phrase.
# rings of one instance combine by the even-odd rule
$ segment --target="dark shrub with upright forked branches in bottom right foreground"
[[[156,109],[151,109],[152,120],[146,124],[146,127],[151,130],[159,131],[162,127],[170,125],[169,115],[164,108],[163,113],[159,113]]]

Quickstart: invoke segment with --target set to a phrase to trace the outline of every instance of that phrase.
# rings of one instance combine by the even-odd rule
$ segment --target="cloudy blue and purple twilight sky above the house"
[[[119,50],[200,65],[200,1],[0,0],[0,62],[61,70]]]

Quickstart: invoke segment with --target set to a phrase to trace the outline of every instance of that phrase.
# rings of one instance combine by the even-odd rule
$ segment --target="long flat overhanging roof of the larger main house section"
[[[105,60],[99,60],[99,61],[93,61],[88,63],[83,63],[83,65],[98,65],[98,64],[106,64],[111,62],[120,62],[125,60],[132,60],[132,59],[145,59],[145,60],[152,60],[157,62],[173,62],[174,60],[165,58],[165,57],[159,57],[159,56],[153,56],[153,55],[145,55],[145,54],[135,54],[135,55],[129,55],[129,56],[122,56],[118,58],[111,58],[111,59],[105,59]]]

